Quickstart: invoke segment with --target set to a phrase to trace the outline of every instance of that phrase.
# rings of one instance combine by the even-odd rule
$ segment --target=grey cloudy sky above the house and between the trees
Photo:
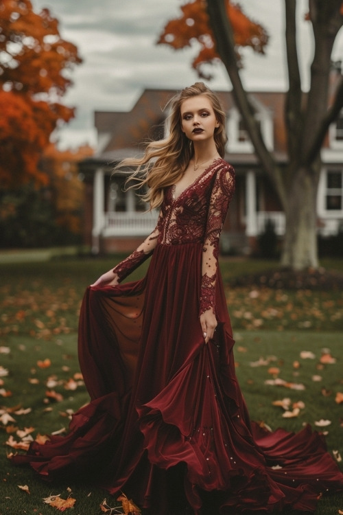
[[[64,102],[77,108],[73,122],[59,135],[61,148],[89,143],[95,146],[95,110],[128,111],[146,87],[181,89],[198,78],[190,63],[196,49],[175,52],[156,45],[165,23],[180,16],[186,0],[32,0],[34,8],[49,8],[60,21],[62,38],[78,46],[82,65],[73,71],[73,87]],[[284,47],[284,0],[240,0],[251,19],[270,35],[267,55],[244,49],[242,79],[247,89],[282,91],[287,87]],[[313,47],[311,25],[303,21],[307,0],[298,0],[298,47],[303,85]],[[342,59],[343,37],[335,45]],[[222,65],[213,69],[212,89],[228,89]]]

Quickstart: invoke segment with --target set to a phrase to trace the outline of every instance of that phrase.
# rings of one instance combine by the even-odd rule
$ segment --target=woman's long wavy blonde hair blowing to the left
[[[219,126],[215,128],[214,140],[217,151],[221,157],[225,154],[227,141],[225,132],[225,113],[220,100],[203,82],[196,82],[193,86],[182,89],[175,95],[165,108],[170,110],[167,117],[168,135],[157,141],[150,141],[145,146],[143,157],[137,159],[123,159],[115,168],[134,167],[136,170],[130,175],[136,182],[130,187],[141,188],[145,185],[148,191],[141,198],[150,204],[150,209],[159,207],[163,202],[164,188],[178,182],[187,168],[189,160],[193,157],[193,144],[181,130],[181,104],[187,98],[197,95],[206,95],[209,98]],[[128,182],[127,181],[127,182]]]

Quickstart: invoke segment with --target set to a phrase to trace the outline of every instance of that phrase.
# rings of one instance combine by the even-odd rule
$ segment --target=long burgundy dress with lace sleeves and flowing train
[[[167,188],[156,229],[115,268],[123,279],[152,254],[145,278],[86,290],[79,355],[91,402],[67,436],[34,442],[16,463],[51,480],[83,473],[155,515],[182,496],[195,514],[209,501],[213,515],[313,511],[320,492],[343,490],[309,426],[270,433],[249,420],[217,268],[234,189],[222,159],[177,198]],[[205,345],[199,316],[209,308],[218,325]]]

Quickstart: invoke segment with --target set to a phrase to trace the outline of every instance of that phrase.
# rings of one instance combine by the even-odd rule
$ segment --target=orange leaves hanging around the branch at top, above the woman
[[[224,1],[226,12],[233,25],[237,57],[240,59],[237,47],[252,47],[255,52],[263,54],[265,45],[268,43],[265,29],[258,23],[252,22],[238,4],[230,0]],[[182,16],[167,22],[157,43],[165,43],[178,50],[190,47],[193,42],[198,41],[200,52],[193,60],[192,67],[200,77],[209,79],[211,76],[206,75],[202,67],[204,64],[220,60],[220,56],[215,49],[214,36],[206,12],[206,1],[193,0],[182,5],[180,9]]]

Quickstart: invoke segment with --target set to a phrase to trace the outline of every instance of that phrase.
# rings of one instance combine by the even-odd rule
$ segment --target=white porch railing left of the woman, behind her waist
[[[147,236],[156,227],[157,211],[105,213],[102,236]]]

